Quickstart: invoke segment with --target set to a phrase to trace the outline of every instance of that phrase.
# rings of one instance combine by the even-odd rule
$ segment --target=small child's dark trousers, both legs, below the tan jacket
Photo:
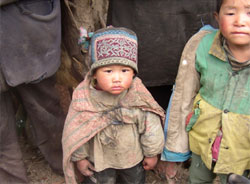
[[[128,169],[105,169],[94,173],[93,177],[88,177],[82,184],[144,184],[145,170],[142,163]]]

